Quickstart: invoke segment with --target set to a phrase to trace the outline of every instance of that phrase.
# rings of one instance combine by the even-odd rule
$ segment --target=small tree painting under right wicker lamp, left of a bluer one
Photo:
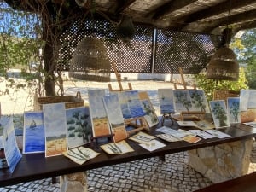
[[[230,126],[226,104],[224,100],[210,101],[213,122],[216,128]]]

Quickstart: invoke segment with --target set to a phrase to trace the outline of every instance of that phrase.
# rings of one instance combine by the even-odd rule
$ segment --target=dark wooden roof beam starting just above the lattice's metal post
[[[151,17],[154,20],[158,20],[160,17],[170,14],[177,9],[182,9],[183,7],[196,2],[197,0],[172,0],[171,2],[161,5],[158,9],[148,13],[147,17]]]

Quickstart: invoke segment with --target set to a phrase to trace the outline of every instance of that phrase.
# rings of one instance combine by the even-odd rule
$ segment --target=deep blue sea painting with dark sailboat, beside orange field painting
[[[43,112],[24,112],[23,154],[44,153]]]

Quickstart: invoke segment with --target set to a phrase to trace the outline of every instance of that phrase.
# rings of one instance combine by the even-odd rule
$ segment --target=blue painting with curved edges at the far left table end
[[[12,173],[15,171],[15,167],[22,158],[22,154],[16,143],[15,127],[12,116],[9,118],[9,121],[3,129],[3,148],[9,172]]]

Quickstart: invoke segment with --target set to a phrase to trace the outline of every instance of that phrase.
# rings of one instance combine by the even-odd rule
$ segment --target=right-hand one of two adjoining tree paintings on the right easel
[[[207,97],[203,90],[188,90],[190,101],[192,104],[192,111],[200,111],[209,113],[210,109],[207,102]]]

